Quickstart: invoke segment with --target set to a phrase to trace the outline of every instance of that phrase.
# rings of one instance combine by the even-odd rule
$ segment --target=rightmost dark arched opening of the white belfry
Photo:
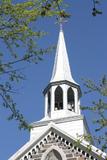
[[[74,91],[70,87],[67,92],[68,109],[75,111]]]

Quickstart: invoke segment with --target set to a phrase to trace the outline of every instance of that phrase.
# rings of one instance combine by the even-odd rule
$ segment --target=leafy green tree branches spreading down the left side
[[[60,9],[62,0],[29,0],[18,3],[12,0],[0,1],[0,103],[1,108],[9,109],[9,120],[15,119],[19,128],[30,129],[14,102],[16,83],[25,79],[18,64],[37,63],[42,55],[51,51],[51,47],[37,45],[45,32],[33,29],[33,23],[45,17],[68,17]],[[4,49],[5,48],[5,49]],[[22,48],[22,52],[19,52]],[[5,51],[4,51],[5,50]]]

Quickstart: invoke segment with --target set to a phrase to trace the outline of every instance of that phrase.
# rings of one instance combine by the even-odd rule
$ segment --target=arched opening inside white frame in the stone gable
[[[62,160],[62,157],[57,150],[53,149],[47,154],[45,158],[45,160],[51,160],[51,159],[52,160]]]

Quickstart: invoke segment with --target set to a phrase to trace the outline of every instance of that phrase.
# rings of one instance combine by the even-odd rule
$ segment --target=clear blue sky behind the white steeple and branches
[[[68,1],[69,2],[69,1]],[[103,14],[97,17],[91,15],[92,3],[90,0],[73,0],[67,9],[71,18],[64,24],[65,41],[73,78],[80,84],[82,90],[82,78],[99,80],[107,74],[107,2],[104,0],[99,6]],[[43,46],[57,44],[59,26],[55,19],[41,19],[37,24],[48,32],[48,36],[40,43]],[[20,49],[21,50],[21,49]],[[40,120],[44,114],[43,89],[49,83],[52,73],[55,52],[45,55],[43,61],[37,65],[26,65],[26,81],[20,83],[19,92],[15,95],[20,111],[25,115],[29,123]],[[82,104],[89,104],[95,97],[85,96]],[[6,120],[8,112],[0,111],[0,156],[7,160],[23,144],[29,140],[27,131],[19,131],[15,121]],[[91,119],[85,115],[90,130],[94,131]]]

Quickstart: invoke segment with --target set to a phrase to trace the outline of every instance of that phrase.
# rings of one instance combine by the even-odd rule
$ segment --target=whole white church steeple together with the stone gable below
[[[80,113],[81,90],[71,74],[62,25],[52,77],[44,96],[44,118],[31,124],[30,140],[9,160],[107,159],[105,153],[83,139],[90,132]]]

